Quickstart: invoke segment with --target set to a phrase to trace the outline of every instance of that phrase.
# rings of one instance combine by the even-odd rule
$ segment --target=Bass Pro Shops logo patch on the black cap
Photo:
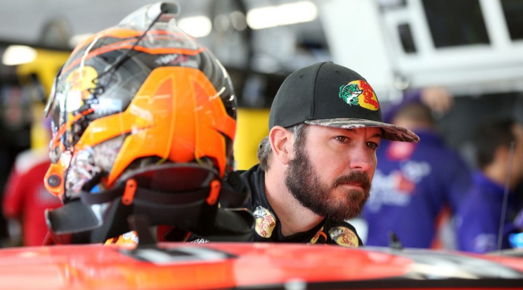
[[[377,111],[380,108],[374,90],[364,80],[355,80],[340,86],[338,96],[351,106],[361,106],[371,111]]]

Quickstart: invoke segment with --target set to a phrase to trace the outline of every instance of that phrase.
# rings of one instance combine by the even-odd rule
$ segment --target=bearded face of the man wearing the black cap
[[[285,183],[294,198],[335,221],[355,218],[369,197],[381,129],[308,126]]]

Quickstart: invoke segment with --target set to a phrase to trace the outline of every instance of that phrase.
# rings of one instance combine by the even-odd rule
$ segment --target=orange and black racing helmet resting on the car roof
[[[79,43],[56,76],[44,184],[64,206],[47,212],[52,232],[98,231],[90,241],[103,241],[129,231],[137,212],[194,231],[220,211],[236,99],[218,59],[176,26],[177,12],[175,3],[138,9]]]

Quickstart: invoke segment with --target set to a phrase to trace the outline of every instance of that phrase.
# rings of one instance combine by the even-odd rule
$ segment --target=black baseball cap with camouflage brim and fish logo
[[[365,78],[330,61],[294,71],[276,93],[269,130],[300,123],[344,129],[378,127],[384,139],[419,142],[411,130],[383,123],[380,103]]]

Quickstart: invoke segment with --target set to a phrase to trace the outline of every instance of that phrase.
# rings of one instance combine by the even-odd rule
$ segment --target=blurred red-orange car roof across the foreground
[[[523,259],[295,244],[0,250],[0,289],[523,288]]]

